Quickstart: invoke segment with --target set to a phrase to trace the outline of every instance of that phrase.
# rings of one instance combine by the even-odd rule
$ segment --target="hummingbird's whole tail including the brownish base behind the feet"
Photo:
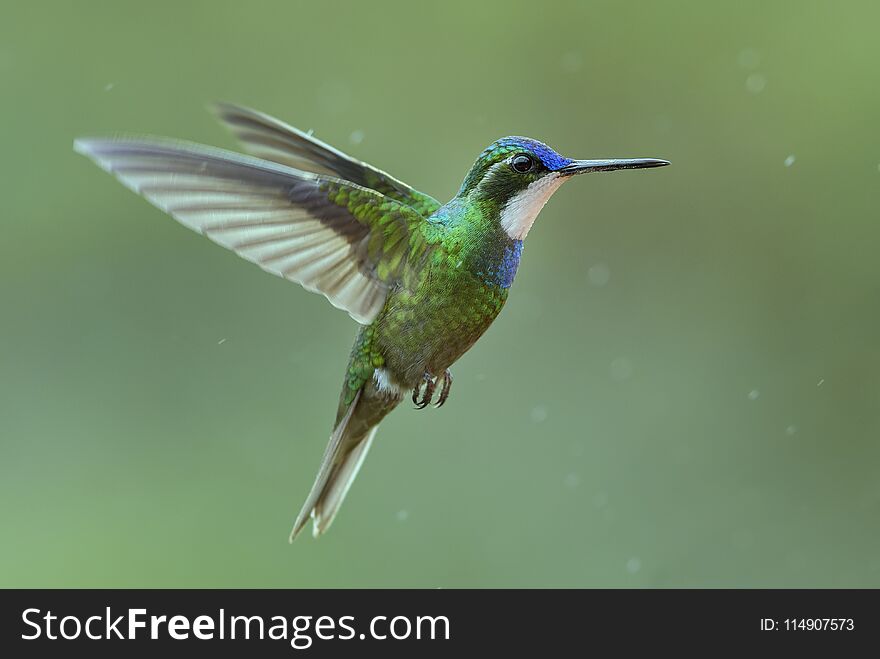
[[[399,401],[387,406],[387,401],[375,396],[372,382],[367,382],[339,419],[324,450],[315,484],[297,515],[290,542],[312,519],[312,534],[317,538],[333,523],[348,489],[357,476],[370,450],[379,421]],[[387,409],[386,409],[387,406]]]

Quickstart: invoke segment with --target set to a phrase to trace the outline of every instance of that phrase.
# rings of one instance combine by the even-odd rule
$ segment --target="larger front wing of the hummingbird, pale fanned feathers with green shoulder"
[[[338,178],[155,138],[80,139],[74,148],[181,224],[360,323],[429,251],[421,215]]]

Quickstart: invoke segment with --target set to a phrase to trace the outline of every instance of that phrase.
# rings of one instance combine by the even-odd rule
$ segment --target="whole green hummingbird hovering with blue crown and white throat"
[[[81,138],[74,149],[186,227],[302,285],[359,324],[336,420],[290,533],[324,533],[384,417],[409,395],[442,407],[450,367],[501,311],[523,241],[579,174],[668,165],[574,160],[527,137],[480,153],[441,204],[278,119],[220,103],[249,155],[166,138]],[[436,399],[435,399],[436,396]]]

